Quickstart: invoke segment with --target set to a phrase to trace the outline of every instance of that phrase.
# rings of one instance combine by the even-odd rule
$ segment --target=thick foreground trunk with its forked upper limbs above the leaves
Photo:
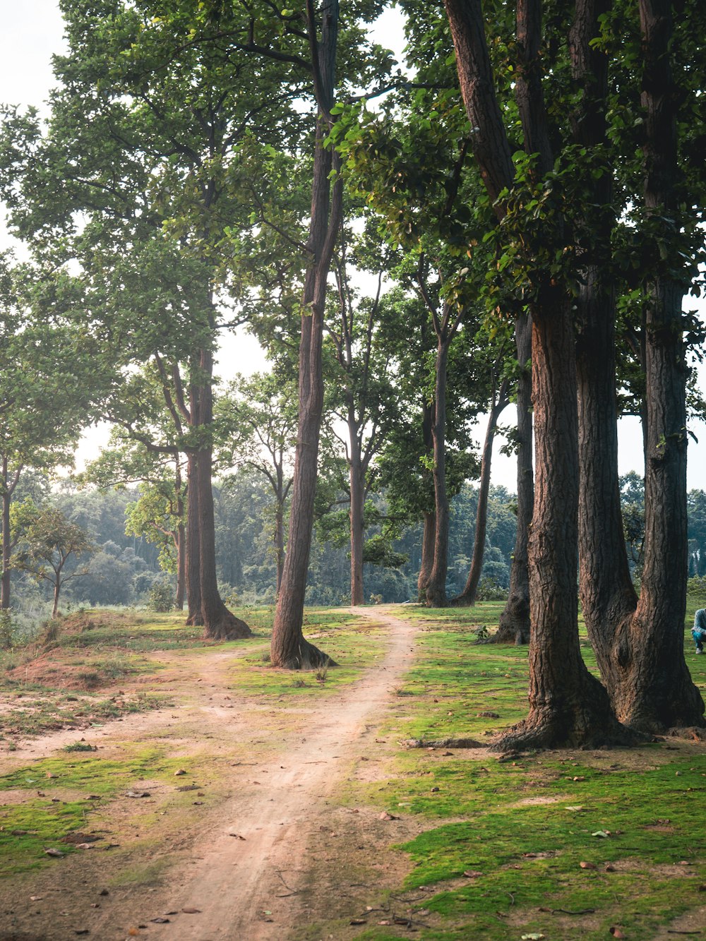
[[[477,133],[473,152],[493,200],[512,188],[514,169],[503,116],[494,95],[480,0],[445,0],[461,92]],[[537,169],[553,166],[541,88],[538,49],[540,0],[517,4],[516,94],[525,151],[538,153]],[[505,215],[504,203],[495,212]],[[547,223],[547,242],[560,246],[562,220]],[[537,480],[529,542],[529,715],[497,747],[626,742],[631,734],[613,715],[601,683],[581,657],[577,624],[578,439],[576,373],[570,293],[561,283],[540,283],[531,313],[532,389]]]

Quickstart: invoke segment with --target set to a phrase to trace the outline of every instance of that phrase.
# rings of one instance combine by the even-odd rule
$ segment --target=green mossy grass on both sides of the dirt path
[[[696,606],[690,605],[689,624]],[[315,931],[302,926],[297,936],[347,938],[353,932],[389,941],[408,937],[411,929],[424,941],[639,939],[658,936],[660,928],[706,934],[702,742],[514,759],[403,744],[459,737],[489,742],[524,714],[526,648],[477,643],[478,630],[494,627],[501,608],[488,602],[473,612],[413,605],[391,610],[419,622],[416,660],[395,690],[393,709],[381,717],[378,734],[388,743],[381,772],[366,780],[351,776],[342,800],[409,822],[416,835],[397,848],[409,874],[379,911],[361,912],[360,927],[334,919]],[[218,647],[236,653],[224,667],[228,686],[241,701],[273,709],[335,694],[383,649],[379,627],[345,612],[309,612],[307,636],[341,666],[318,676],[292,675],[272,670],[266,659],[271,611],[238,614],[256,636]],[[6,747],[20,733],[99,724],[123,710],[164,705],[164,698],[140,697],[135,688],[141,678],[158,675],[151,655],[183,652],[198,663],[208,653],[201,631],[185,629],[181,616],[80,617],[31,649],[5,655],[0,718]],[[706,656],[696,657],[685,637],[689,668],[704,691]],[[583,632],[582,644],[595,669]],[[81,671],[98,675],[96,689],[67,692],[64,679]],[[124,683],[126,692],[107,695],[111,683]],[[207,748],[204,742],[202,767]],[[0,873],[51,865],[44,854],[50,842],[75,852],[61,838],[88,828],[96,808],[136,780],[171,781],[170,799],[192,801],[174,787],[178,767],[179,759],[159,747],[108,759],[89,752],[77,736],[69,750],[6,774],[0,789],[22,799],[2,811]],[[675,921],[680,917],[686,920]]]

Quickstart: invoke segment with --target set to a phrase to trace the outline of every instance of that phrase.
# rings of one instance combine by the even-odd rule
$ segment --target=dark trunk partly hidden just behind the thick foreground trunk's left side
[[[530,636],[529,570],[527,542],[535,502],[532,463],[532,322],[522,313],[515,324],[515,345],[520,364],[517,388],[517,534],[510,567],[510,591],[492,636],[494,644],[527,644]]]

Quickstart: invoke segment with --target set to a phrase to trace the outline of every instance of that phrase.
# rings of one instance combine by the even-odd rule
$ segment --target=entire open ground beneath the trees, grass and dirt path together
[[[696,737],[412,747],[521,719],[526,649],[477,644],[499,607],[308,613],[341,666],[294,676],[267,662],[271,612],[219,645],[176,615],[73,615],[15,651],[0,938],[706,933]]]

